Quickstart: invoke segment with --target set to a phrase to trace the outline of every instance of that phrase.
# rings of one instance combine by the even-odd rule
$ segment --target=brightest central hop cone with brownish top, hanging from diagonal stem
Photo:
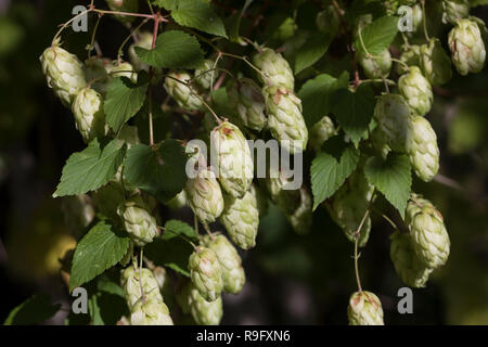
[[[233,197],[242,197],[249,190],[254,177],[251,149],[241,130],[229,121],[222,121],[210,133],[213,166],[223,190]]]

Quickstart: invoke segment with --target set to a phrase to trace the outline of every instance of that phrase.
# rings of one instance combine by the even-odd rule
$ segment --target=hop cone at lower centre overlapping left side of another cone
[[[207,301],[220,297],[223,288],[222,267],[214,250],[198,246],[189,259],[192,283]]]

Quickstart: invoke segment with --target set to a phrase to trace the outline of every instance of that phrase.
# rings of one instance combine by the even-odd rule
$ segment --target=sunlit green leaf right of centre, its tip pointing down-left
[[[346,145],[341,137],[329,139],[311,164],[313,209],[332,196],[359,163],[359,151]]]

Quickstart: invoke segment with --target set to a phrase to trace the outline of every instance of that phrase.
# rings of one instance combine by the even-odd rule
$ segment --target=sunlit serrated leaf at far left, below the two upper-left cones
[[[94,139],[82,152],[74,153],[63,167],[53,197],[94,191],[114,178],[126,155],[124,141],[112,140],[104,147]]]

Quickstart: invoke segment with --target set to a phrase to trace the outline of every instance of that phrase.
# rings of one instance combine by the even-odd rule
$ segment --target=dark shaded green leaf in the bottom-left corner
[[[53,317],[61,304],[53,305],[46,294],[36,294],[10,311],[3,325],[40,324]]]

